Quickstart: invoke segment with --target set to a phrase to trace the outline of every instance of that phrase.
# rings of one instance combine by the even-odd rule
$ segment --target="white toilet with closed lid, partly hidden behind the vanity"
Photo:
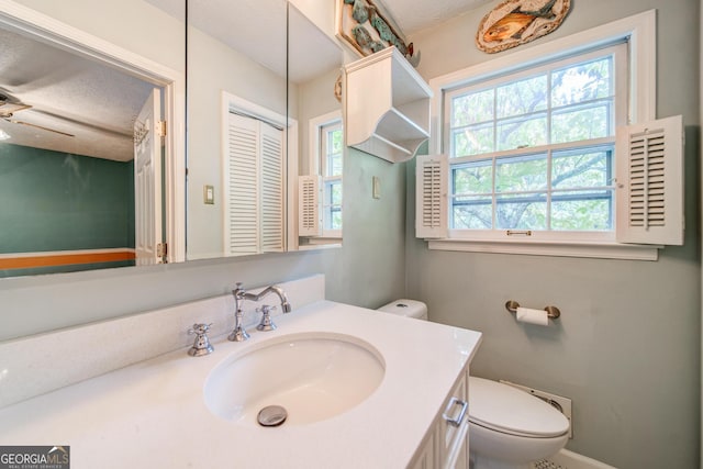
[[[379,311],[427,320],[427,306],[401,299]],[[525,391],[469,377],[471,469],[528,469],[558,453],[569,439],[567,417]]]

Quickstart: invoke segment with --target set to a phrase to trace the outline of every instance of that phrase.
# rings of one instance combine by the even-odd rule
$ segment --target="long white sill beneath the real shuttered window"
[[[526,241],[426,239],[432,250],[465,253],[525,254],[529,256],[590,257],[596,259],[657,260],[663,246]]]

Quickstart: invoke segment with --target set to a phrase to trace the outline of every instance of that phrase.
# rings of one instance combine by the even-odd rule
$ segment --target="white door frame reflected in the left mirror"
[[[186,260],[186,79],[175,70],[12,0],[0,0],[0,23],[164,90],[165,200],[168,263]]]

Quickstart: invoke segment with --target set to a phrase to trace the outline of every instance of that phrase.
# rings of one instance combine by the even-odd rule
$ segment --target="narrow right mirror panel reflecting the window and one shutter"
[[[344,141],[341,104],[343,52],[291,4],[291,103],[299,122],[298,248],[342,243]],[[313,52],[313,53],[311,53]]]

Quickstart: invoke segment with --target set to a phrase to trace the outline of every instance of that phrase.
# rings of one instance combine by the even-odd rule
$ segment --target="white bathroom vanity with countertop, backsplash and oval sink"
[[[231,295],[222,295],[0,344],[0,356],[7,357],[3,368],[10,370],[2,379],[0,392],[0,445],[62,442],[71,447],[75,467],[101,469],[226,468],[233,466],[233,453],[246,455],[236,460],[238,469],[467,467],[466,413],[459,426],[447,423],[443,414],[456,418],[464,409],[451,398],[465,402],[468,397],[468,369],[481,342],[480,333],[326,301],[324,281],[317,276],[279,287],[284,289],[294,310],[276,316],[276,331],[250,327],[250,338],[244,343],[226,339],[232,327],[233,300]],[[253,321],[247,325],[254,326],[259,317],[254,310],[259,304],[248,303],[245,310],[252,313]],[[187,354],[193,338],[185,328],[194,322],[212,322],[211,331],[221,332],[211,335],[214,351],[208,356],[193,358]],[[148,333],[135,338],[140,340],[136,346],[135,340],[120,339],[135,328]],[[174,337],[172,343],[167,342],[169,337]],[[256,421],[259,403],[280,402],[277,399],[264,402],[246,397],[255,393],[245,393],[252,392],[250,383],[256,381],[261,390],[257,398],[265,393],[283,395],[286,389],[281,387],[292,386],[290,380],[281,381],[277,379],[279,376],[269,379],[270,367],[263,366],[260,360],[269,357],[264,350],[280,350],[280,346],[298,340],[320,345],[335,340],[336,348],[346,350],[339,358],[349,357],[348,351],[360,347],[357,357],[376,357],[372,362],[382,360],[383,367],[379,366],[383,369],[382,379],[367,398],[357,392],[335,394],[352,407],[344,412],[339,402],[333,403],[328,410],[339,412],[334,418],[295,424],[291,417],[280,427],[263,427]],[[97,359],[96,354],[90,357],[80,354],[79,348],[86,343],[102,345]],[[133,364],[124,361],[133,359],[135,353],[152,354],[155,346],[170,347],[170,344],[175,344],[174,351],[136,359]],[[57,355],[57,349],[60,356],[78,358],[70,367],[62,368],[60,373],[43,375],[41,378],[53,380],[47,381],[49,384],[65,380],[77,368],[93,372],[97,360],[120,368],[102,369],[101,375],[93,377],[81,375],[80,380],[78,375],[70,375],[76,379],[71,386],[43,388],[43,392],[37,392],[33,371],[41,368],[46,356]],[[248,366],[237,371],[245,379],[234,379],[232,388],[217,388],[213,377],[222,376],[217,371],[220,365],[241,359],[241,365]],[[253,360],[258,360],[259,369],[252,366]],[[372,368],[358,364],[355,366],[367,379]],[[309,377],[322,379],[325,373],[326,369],[320,369]],[[347,387],[349,391],[355,388]],[[417,392],[409,392],[412,389]],[[13,397],[14,402],[8,402]],[[308,404],[310,397],[292,399],[287,406],[302,412],[301,418],[320,415],[322,401],[320,406],[312,406]],[[221,405],[249,404],[248,417],[228,417],[220,412]],[[409,410],[402,424],[399,409]],[[203,431],[183,431],[191,427]],[[120,458],[105,459],[104,455],[114,450],[114,442],[121,442],[124,450]],[[200,448],[208,448],[207,454]]]

